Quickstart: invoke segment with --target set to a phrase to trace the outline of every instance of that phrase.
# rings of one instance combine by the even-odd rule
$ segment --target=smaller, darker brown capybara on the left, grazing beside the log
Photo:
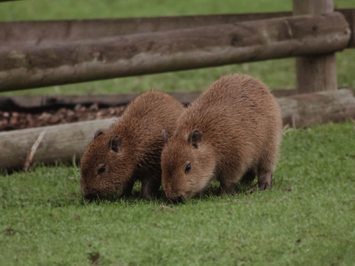
[[[162,130],[172,134],[183,110],[170,95],[149,91],[134,99],[106,132],[98,130],[81,158],[84,198],[130,195],[136,180],[142,182],[142,198],[154,195],[162,175]]]

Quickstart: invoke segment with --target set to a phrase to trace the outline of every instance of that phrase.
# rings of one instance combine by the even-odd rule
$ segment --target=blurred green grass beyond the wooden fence
[[[353,0],[335,0],[338,8],[355,8]],[[291,0],[32,0],[1,3],[0,21],[58,20],[108,17],[174,16],[213,13],[271,12],[292,9]],[[339,87],[355,87],[355,49],[337,53]],[[225,73],[247,73],[262,79],[272,89],[294,88],[293,59],[244,63],[200,70],[138,77],[116,78],[1,93],[0,95],[107,94],[144,92],[158,88],[166,92],[202,91]]]

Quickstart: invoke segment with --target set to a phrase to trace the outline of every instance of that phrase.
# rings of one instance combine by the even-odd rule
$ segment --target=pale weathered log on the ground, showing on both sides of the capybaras
[[[355,118],[355,97],[352,90],[339,89],[329,92],[294,95],[278,98],[283,123],[294,127],[339,122]],[[0,169],[19,169],[37,140],[45,131],[33,161],[50,164],[55,160],[79,159],[98,128],[105,129],[113,119],[78,122],[58,126],[29,128],[0,132]]]

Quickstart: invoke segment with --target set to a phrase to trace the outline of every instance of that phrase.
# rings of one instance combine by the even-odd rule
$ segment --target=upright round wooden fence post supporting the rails
[[[293,0],[293,15],[334,11],[333,0]],[[313,26],[313,31],[317,27]],[[296,58],[296,88],[299,93],[337,89],[335,53]]]

